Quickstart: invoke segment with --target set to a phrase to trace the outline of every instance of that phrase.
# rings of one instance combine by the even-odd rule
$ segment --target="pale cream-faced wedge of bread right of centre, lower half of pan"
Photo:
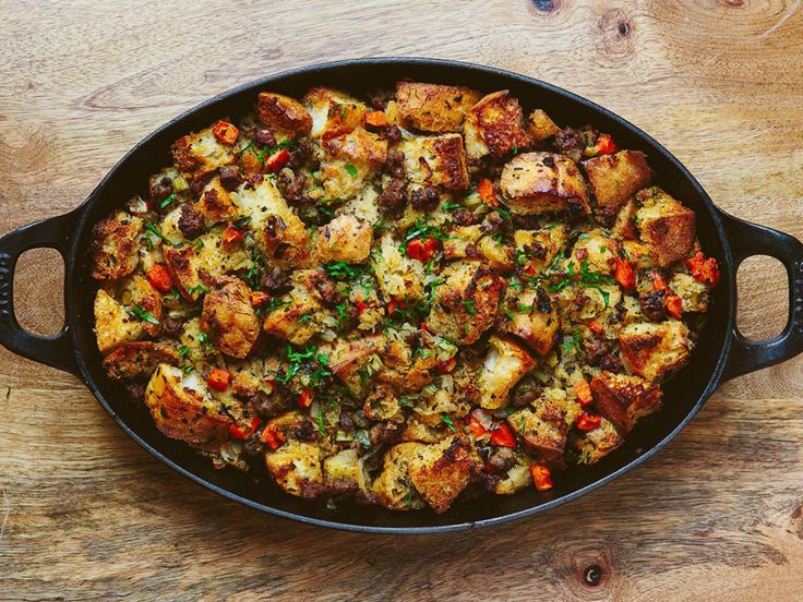
[[[491,336],[491,349],[480,372],[480,406],[487,410],[502,408],[516,383],[532,370],[536,360],[512,339]]]

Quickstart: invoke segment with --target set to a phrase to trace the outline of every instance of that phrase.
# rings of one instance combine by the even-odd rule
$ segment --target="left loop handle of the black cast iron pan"
[[[64,258],[75,229],[77,213],[51,217],[12,230],[0,238],[0,345],[25,358],[79,375],[75,352],[70,342],[70,326],[53,337],[28,333],[14,314],[14,270],[16,261],[29,249],[56,249]]]

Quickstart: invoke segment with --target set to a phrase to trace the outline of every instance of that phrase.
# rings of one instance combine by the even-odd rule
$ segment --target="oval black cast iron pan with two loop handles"
[[[169,147],[175,140],[223,116],[249,112],[262,89],[301,95],[312,86],[329,85],[360,94],[377,86],[393,86],[402,77],[460,84],[484,92],[507,88],[525,108],[542,108],[558,123],[592,123],[610,132],[620,147],[644,150],[658,173],[656,183],[697,213],[699,240],[705,252],[717,258],[722,273],[714,293],[709,322],[700,334],[692,362],[667,383],[664,409],[640,421],[620,449],[595,467],[561,474],[549,492],[528,489],[514,496],[489,495],[457,502],[441,516],[429,510],[392,513],[348,503],[332,509],[323,503],[309,503],[281,493],[264,473],[243,475],[233,470],[215,471],[207,459],[161,435],[147,412],[134,407],[119,385],[106,378],[92,330],[95,286],[89,276],[92,226],[132,194],[145,189],[147,176],[170,160]],[[57,249],[64,257],[67,321],[61,333],[52,338],[25,332],[14,316],[12,282],[16,260],[34,248]],[[779,336],[765,341],[745,339],[735,326],[736,269],[745,257],[758,254],[779,260],[789,276],[789,321]],[[272,75],[199,105],[137,144],[79,208],[20,228],[0,239],[0,344],[15,353],[81,378],[129,436],[179,473],[230,499],[265,513],[338,529],[393,533],[455,531],[530,516],[612,481],[667,445],[720,383],[803,351],[803,244],[782,232],[724,214],[678,159],[655,140],[624,119],[570,92],[515,73],[454,61],[349,60]]]

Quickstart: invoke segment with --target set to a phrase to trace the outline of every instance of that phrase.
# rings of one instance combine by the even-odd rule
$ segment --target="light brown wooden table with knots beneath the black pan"
[[[662,141],[724,209],[803,238],[800,0],[244,4],[0,2],[0,231],[76,206],[140,139],[214,94],[322,60],[411,55],[589,97]],[[25,257],[28,327],[58,329],[62,273],[52,252]],[[743,329],[777,333],[780,265],[753,260],[740,281]],[[2,599],[801,597],[803,359],[722,386],[610,486],[443,537],[340,533],[229,503],[137,447],[77,380],[4,350],[0,410]]]

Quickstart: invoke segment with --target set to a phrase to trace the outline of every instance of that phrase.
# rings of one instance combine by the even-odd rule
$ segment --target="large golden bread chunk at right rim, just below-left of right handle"
[[[683,322],[630,324],[619,334],[627,368],[648,381],[657,381],[683,368],[694,347]]]

